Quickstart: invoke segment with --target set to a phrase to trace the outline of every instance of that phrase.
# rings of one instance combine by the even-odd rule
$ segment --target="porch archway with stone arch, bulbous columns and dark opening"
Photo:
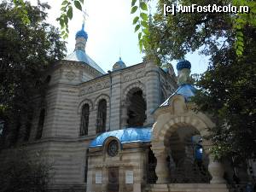
[[[207,130],[211,127],[210,119],[207,119],[206,116],[200,113],[190,112],[170,116],[170,118],[166,119],[163,123],[161,122],[163,119],[160,116],[161,115],[158,114],[156,123],[153,126],[151,147],[157,158],[157,166],[155,169],[158,177],[157,183],[224,183],[224,172],[221,165],[213,160],[212,155],[209,155],[211,141],[204,139],[201,144],[205,154],[203,160],[204,167],[201,167],[202,171],[200,170],[200,167],[194,165],[195,155],[192,155],[192,148],[189,146],[192,144],[189,141],[192,136],[199,134],[203,138],[209,136]],[[161,121],[158,121],[158,118],[160,118]],[[193,160],[191,156],[193,156]],[[170,164],[170,162],[172,162],[172,164]],[[174,167],[170,167],[170,165],[174,165]],[[191,168],[193,168],[192,165],[194,165],[194,168],[196,167],[195,170],[191,170]],[[187,170],[184,168],[186,166]],[[210,174],[208,174],[207,168]],[[195,174],[192,174],[192,171],[195,171]],[[177,175],[181,172],[189,172],[191,175],[189,177],[184,177],[183,174],[178,177]],[[206,180],[202,177],[198,177],[203,173],[206,174]],[[198,174],[197,178],[194,177],[196,174]],[[210,177],[210,175],[212,177]]]

